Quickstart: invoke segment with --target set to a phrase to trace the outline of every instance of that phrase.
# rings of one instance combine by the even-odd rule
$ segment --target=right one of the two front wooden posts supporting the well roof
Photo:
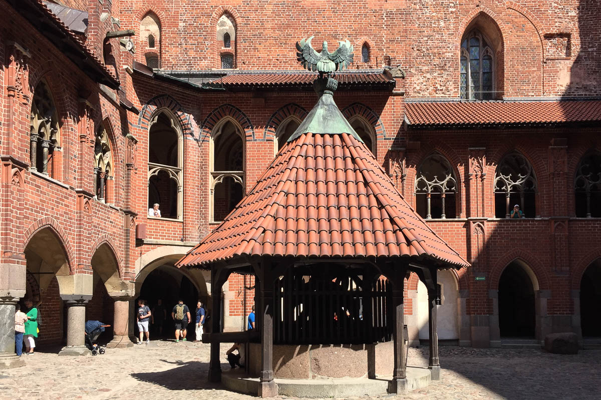
[[[404,330],[404,304],[403,304],[403,290],[404,290],[404,267],[395,266],[395,270],[392,274],[392,315],[394,315],[394,368],[392,370],[392,381],[391,387],[389,387],[390,393],[404,393],[407,391],[407,349],[405,344],[405,330]]]

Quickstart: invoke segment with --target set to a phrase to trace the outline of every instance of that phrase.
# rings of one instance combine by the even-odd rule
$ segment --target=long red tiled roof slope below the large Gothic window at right
[[[411,127],[601,121],[601,101],[407,103]]]

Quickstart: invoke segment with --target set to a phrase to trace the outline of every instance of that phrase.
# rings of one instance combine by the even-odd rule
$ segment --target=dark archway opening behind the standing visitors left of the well
[[[174,323],[171,318],[171,310],[177,304],[180,297],[190,309],[190,316],[194,321],[198,290],[180,270],[171,265],[162,265],[149,273],[144,279],[138,298],[146,300],[151,310],[155,309],[157,300],[161,299],[166,311],[162,335],[159,333],[157,318],[155,316],[155,325],[151,325],[150,329],[150,339],[173,338]],[[138,335],[137,332],[136,335]],[[187,339],[195,339],[194,324],[189,324],[188,326]]]

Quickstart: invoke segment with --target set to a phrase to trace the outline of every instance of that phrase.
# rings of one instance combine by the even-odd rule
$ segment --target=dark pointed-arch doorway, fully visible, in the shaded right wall
[[[499,279],[499,330],[502,337],[534,337],[534,287],[520,264],[510,263]]]

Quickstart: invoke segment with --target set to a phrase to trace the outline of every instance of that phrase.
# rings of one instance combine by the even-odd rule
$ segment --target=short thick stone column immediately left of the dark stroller
[[[87,356],[91,351],[85,347],[85,305],[91,295],[67,294],[61,296],[67,307],[67,345],[59,356]]]

